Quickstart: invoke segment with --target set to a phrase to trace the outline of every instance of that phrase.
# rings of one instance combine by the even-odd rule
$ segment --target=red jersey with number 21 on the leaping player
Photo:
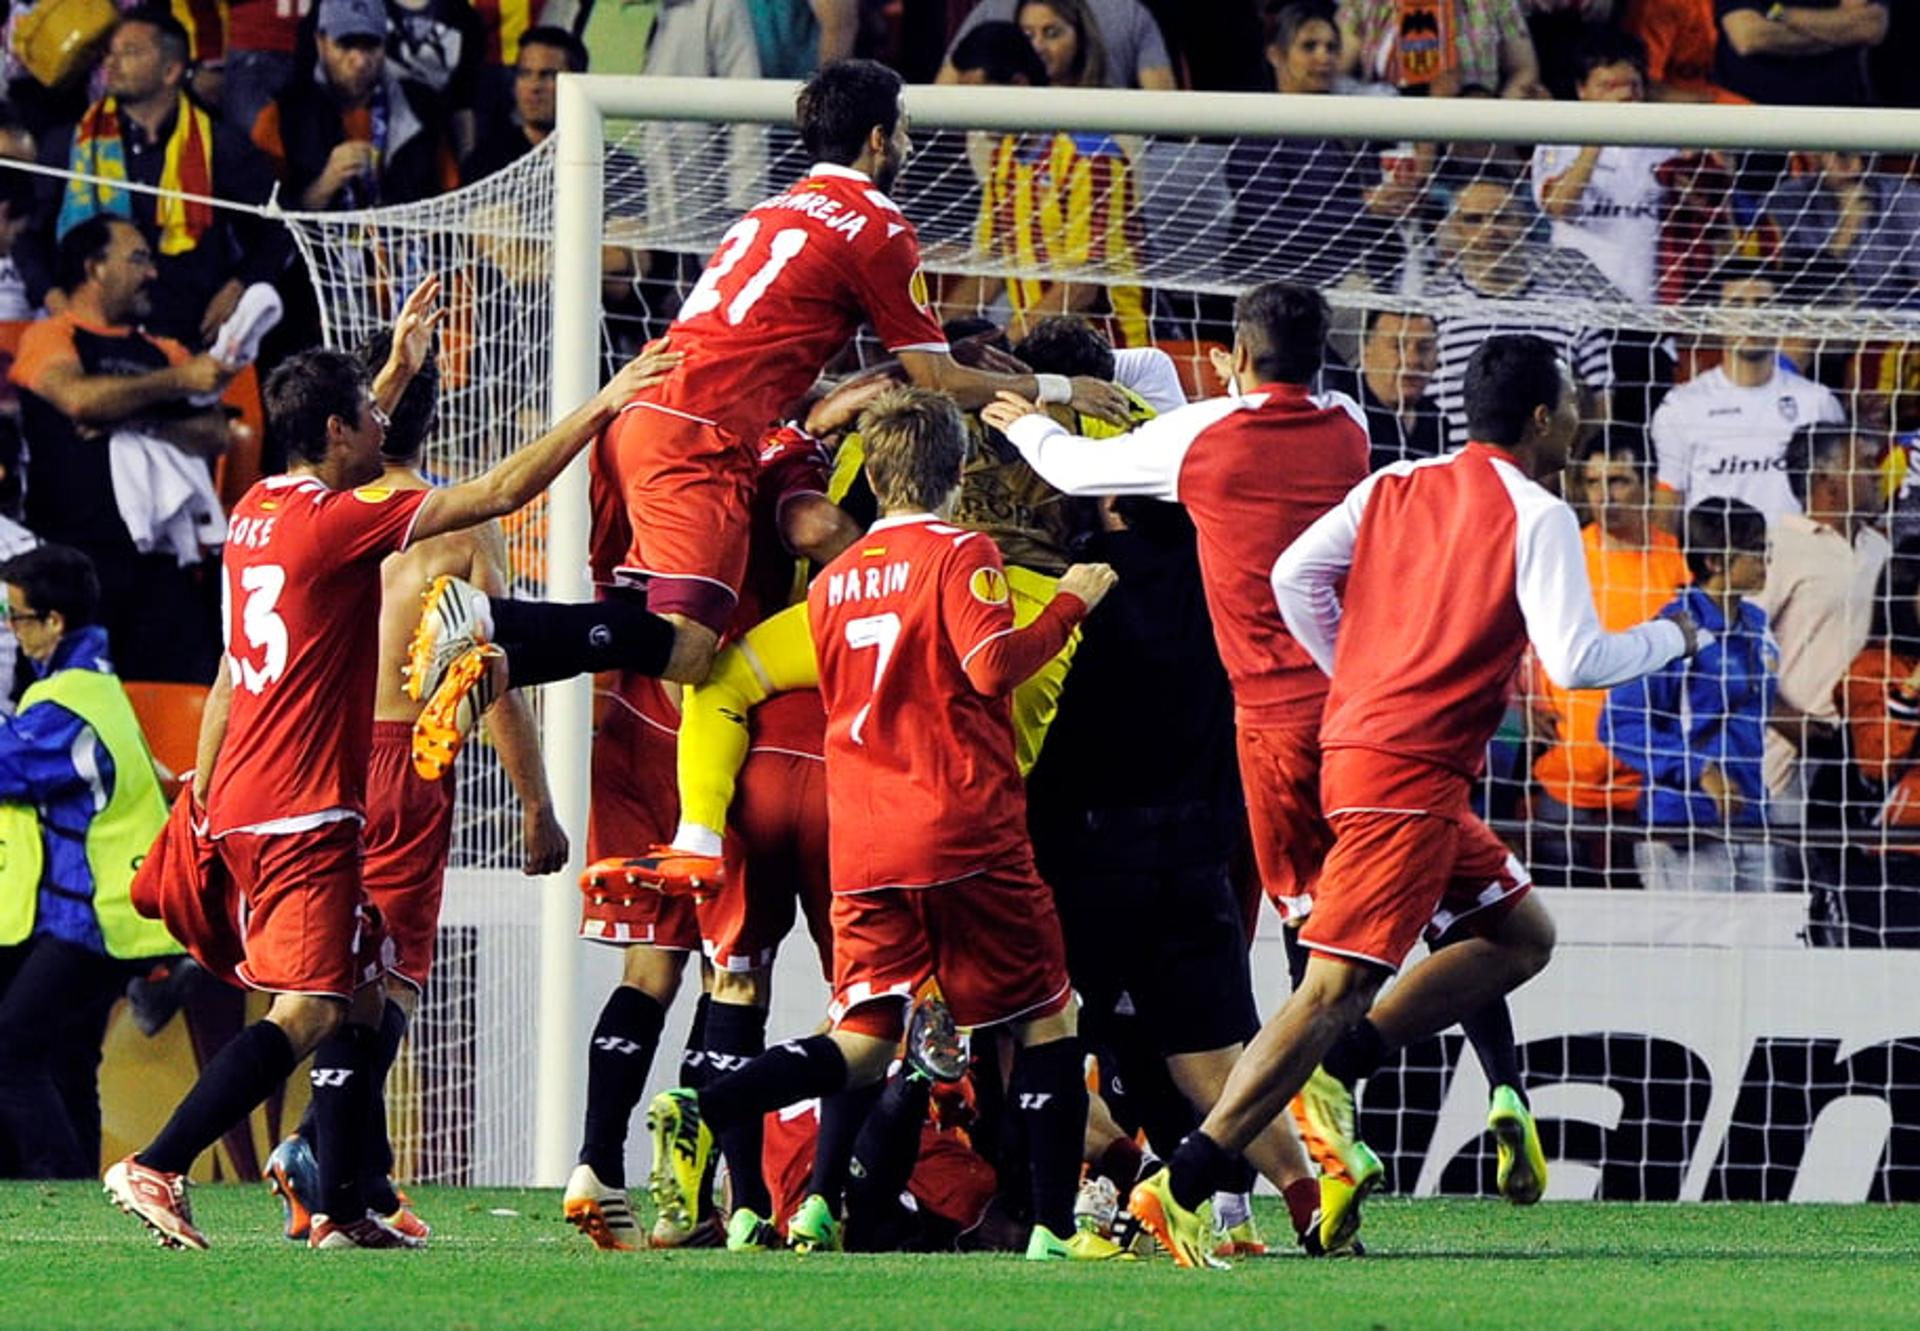
[[[758,446],[862,323],[889,351],[947,350],[914,225],[868,177],[816,165],[726,232],[668,328],[685,359],[639,399]]]

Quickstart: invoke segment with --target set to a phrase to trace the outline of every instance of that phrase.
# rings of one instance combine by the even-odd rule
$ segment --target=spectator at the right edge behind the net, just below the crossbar
[[[1822,152],[1820,169],[1782,181],[1763,211],[1780,265],[1818,303],[1920,303],[1920,190],[1874,154]]]

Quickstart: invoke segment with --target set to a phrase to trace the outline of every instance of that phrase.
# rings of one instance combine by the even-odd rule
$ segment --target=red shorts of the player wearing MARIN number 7
[[[933,976],[958,1026],[1050,1016],[1068,1004],[1054,893],[1027,864],[937,887],[833,897],[833,1020],[906,1001]]]

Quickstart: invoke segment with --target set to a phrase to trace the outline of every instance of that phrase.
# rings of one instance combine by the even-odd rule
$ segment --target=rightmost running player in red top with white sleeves
[[[1373,472],[1273,565],[1288,632],[1331,676],[1319,786],[1334,843],[1300,930],[1311,949],[1300,985],[1200,1131],[1135,1189],[1135,1214],[1183,1266],[1212,1179],[1369,1016],[1423,930],[1459,920],[1473,937],[1434,951],[1373,1010],[1394,1043],[1446,1029],[1548,964],[1551,918],[1469,809],[1523,653],[1563,688],[1611,688],[1697,645],[1684,615],[1599,626],[1578,522],[1538,484],[1580,424],[1555,348],[1488,338],[1465,386],[1465,449]]]

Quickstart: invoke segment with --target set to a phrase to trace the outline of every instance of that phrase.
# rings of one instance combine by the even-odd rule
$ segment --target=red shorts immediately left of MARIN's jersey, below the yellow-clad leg
[[[831,980],[826,762],[753,749],[728,824],[726,889],[699,905],[707,958],[733,972],[772,966],[799,907]]]

